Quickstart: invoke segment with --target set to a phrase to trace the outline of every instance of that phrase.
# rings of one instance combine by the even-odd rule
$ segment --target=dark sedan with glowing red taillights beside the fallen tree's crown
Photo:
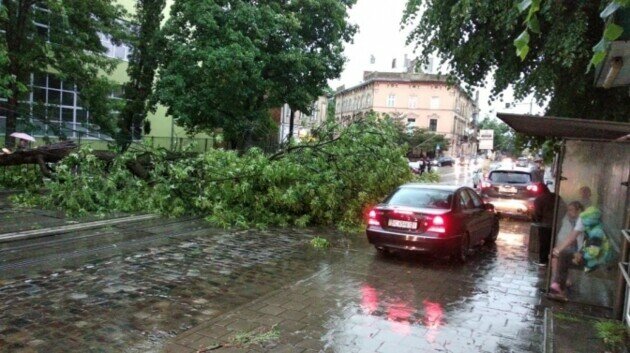
[[[465,261],[471,248],[499,234],[494,207],[468,187],[406,184],[368,218],[368,240],[383,252],[421,251]]]

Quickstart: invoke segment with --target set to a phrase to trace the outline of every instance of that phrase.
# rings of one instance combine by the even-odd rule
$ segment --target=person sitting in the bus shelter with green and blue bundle
[[[567,238],[553,249],[552,255],[558,259],[556,278],[550,286],[553,299],[566,300],[569,268],[581,267],[585,272],[590,272],[612,260],[613,251],[604,233],[601,216],[599,209],[587,208],[580,214]],[[584,235],[584,244],[575,251],[571,246],[577,242],[580,234]]]

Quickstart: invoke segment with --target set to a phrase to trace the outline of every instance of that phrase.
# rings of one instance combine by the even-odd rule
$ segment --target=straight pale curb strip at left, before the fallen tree
[[[78,230],[100,228],[103,226],[116,225],[116,224],[127,223],[127,222],[145,221],[145,220],[150,220],[150,219],[155,219],[155,218],[159,218],[159,216],[149,214],[149,215],[107,219],[107,220],[102,220],[102,221],[69,224],[65,226],[27,230],[27,231],[22,231],[22,232],[4,233],[4,234],[0,234],[0,243],[9,243],[9,242],[18,241],[18,240],[41,238],[41,237],[47,237],[47,236],[51,236],[55,234],[69,233],[69,232],[74,232]]]

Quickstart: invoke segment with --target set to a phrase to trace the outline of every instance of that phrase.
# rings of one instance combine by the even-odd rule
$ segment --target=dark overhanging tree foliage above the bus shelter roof
[[[594,70],[587,73],[608,1],[537,3],[538,33],[528,34],[521,56],[514,41],[523,32],[522,16],[512,1],[408,0],[403,24],[412,28],[408,42],[425,60],[437,53],[455,80],[484,86],[491,77],[491,99],[513,85],[516,99],[530,93],[540,102],[549,99],[549,115],[627,121],[627,88],[596,88]]]

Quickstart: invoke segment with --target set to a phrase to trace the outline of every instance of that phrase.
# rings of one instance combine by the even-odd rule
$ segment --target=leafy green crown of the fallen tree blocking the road
[[[147,152],[106,162],[82,149],[57,165],[47,193],[26,192],[14,201],[71,215],[203,216],[220,227],[356,227],[369,206],[412,178],[406,150],[390,121],[366,118],[324,129],[318,141],[271,156],[256,148],[213,149],[169,160],[166,151],[149,151],[148,179],[128,168]]]

